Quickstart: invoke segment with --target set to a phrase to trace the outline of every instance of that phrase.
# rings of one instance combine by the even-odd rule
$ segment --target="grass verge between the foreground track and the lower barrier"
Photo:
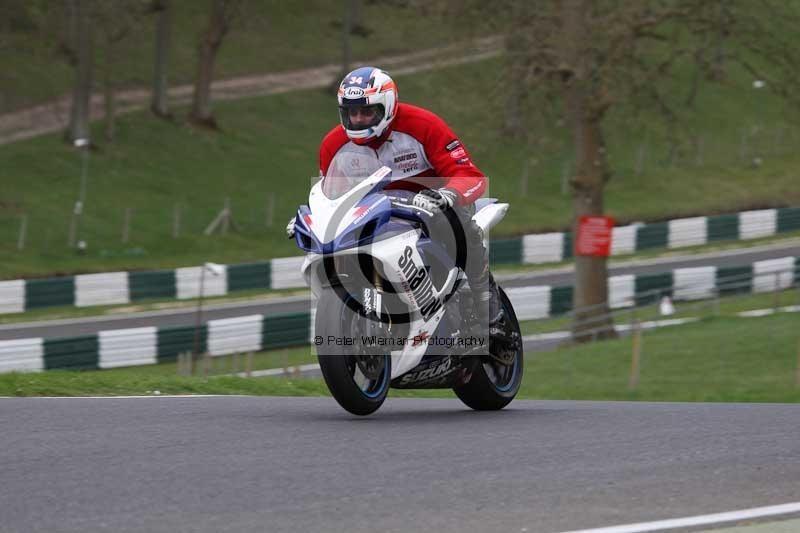
[[[628,388],[631,340],[540,352],[526,358],[519,398],[648,401],[798,402],[796,314],[719,317],[648,331],[639,385]],[[313,361],[309,348],[259,357]],[[272,366],[275,364],[273,359]],[[259,366],[267,365],[264,361]],[[100,371],[0,375],[4,396],[161,394],[327,395],[320,379],[179,377],[174,364]],[[392,391],[396,397],[453,397],[447,390]]]

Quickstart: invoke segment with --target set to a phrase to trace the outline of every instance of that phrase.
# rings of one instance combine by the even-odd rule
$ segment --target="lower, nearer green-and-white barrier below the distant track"
[[[700,300],[731,293],[770,292],[800,286],[800,257],[758,261],[734,268],[679,268],[661,274],[612,276],[612,309],[650,304],[663,296]],[[572,310],[572,287],[548,285],[507,291],[520,320],[548,318]],[[195,350],[211,356],[307,345],[314,309],[308,313],[248,315],[193,326],[131,328],[56,339],[0,341],[0,372],[96,369],[174,361]]]

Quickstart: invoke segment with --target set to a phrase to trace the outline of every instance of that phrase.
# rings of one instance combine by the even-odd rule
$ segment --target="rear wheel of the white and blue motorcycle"
[[[524,353],[522,334],[511,301],[500,287],[506,333],[505,343],[490,342],[490,355],[480,356],[472,377],[464,385],[454,387],[456,396],[477,411],[496,411],[514,399],[522,384]]]

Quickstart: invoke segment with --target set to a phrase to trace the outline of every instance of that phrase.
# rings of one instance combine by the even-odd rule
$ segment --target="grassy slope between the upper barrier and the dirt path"
[[[490,177],[487,195],[511,201],[493,236],[564,231],[571,221],[571,198],[562,189],[573,158],[569,143],[538,150],[531,163],[532,148],[503,133],[498,87],[503,69],[500,58],[397,78],[404,101],[429,107],[459,133]],[[800,204],[792,115],[766,97],[758,109],[745,105],[737,92],[743,83],[737,78],[727,93],[698,103],[697,135],[709,139],[702,145],[702,160],[660,157],[672,151],[663,128],[655,126],[656,117],[644,117],[645,125],[637,125],[634,135],[626,110],[610,117],[614,177],[606,189],[608,214],[624,224]],[[453,98],[443,87],[464,90]],[[283,225],[306,201],[312,176],[318,173],[318,143],[337,123],[333,97],[325,91],[296,91],[219,102],[215,109],[223,124],[219,133],[155,121],[146,113],[121,117],[116,141],[99,146],[89,157],[80,225],[80,238],[88,247],[81,255],[67,247],[82,171],[80,154],[58,135],[3,146],[0,278],[297,255]],[[768,121],[775,129],[758,130],[747,145],[760,154],[756,168],[747,157],[732,154],[740,151],[739,129],[757,121]],[[100,127],[95,125],[98,139]],[[552,135],[569,138],[559,128],[554,126]],[[775,132],[780,135],[773,136]],[[525,170],[523,163],[531,166]],[[226,198],[238,231],[203,235]],[[173,238],[176,213],[181,233]],[[19,251],[23,215],[28,217],[28,237]],[[126,220],[129,240],[123,243]]]

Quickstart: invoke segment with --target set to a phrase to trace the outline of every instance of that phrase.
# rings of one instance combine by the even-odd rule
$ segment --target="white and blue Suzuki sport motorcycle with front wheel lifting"
[[[390,388],[449,388],[472,409],[508,405],[522,381],[519,322],[499,286],[499,327],[489,331],[475,316],[453,211],[415,207],[413,187],[399,188],[365,152],[337,154],[328,174],[311,187],[294,228],[317,300],[319,366],[336,401],[368,415]],[[481,198],[472,218],[487,235],[507,210]]]

